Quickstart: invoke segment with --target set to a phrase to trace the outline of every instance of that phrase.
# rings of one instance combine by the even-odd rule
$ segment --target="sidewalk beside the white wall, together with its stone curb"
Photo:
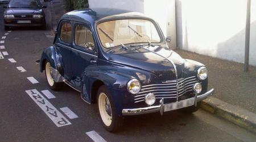
[[[184,59],[199,61],[209,72],[208,89],[212,97],[201,107],[230,122],[256,133],[256,67],[243,72],[243,64],[176,49]]]

